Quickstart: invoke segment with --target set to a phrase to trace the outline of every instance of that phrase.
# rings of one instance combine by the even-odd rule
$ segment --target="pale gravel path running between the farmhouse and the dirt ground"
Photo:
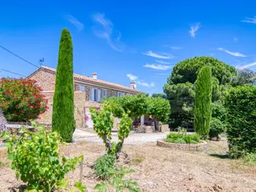
[[[154,133],[154,134],[137,134],[131,133],[127,139],[124,139],[124,144],[129,145],[142,145],[148,142],[157,142],[158,139],[164,139],[167,134],[170,132],[165,133]],[[112,133],[113,141],[117,142],[117,133]],[[75,129],[75,133],[73,134],[73,139],[75,142],[97,142],[102,143],[102,139],[97,137],[97,134],[89,133],[87,131],[83,131],[80,129]]]

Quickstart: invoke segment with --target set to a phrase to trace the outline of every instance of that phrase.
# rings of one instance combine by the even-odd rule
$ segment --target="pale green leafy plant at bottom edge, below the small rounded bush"
[[[140,192],[138,183],[134,180],[125,180],[124,174],[130,174],[134,172],[132,169],[126,167],[117,167],[116,169],[110,169],[110,180],[106,183],[99,183],[95,186],[94,190],[98,192],[116,192],[127,190],[129,192]]]

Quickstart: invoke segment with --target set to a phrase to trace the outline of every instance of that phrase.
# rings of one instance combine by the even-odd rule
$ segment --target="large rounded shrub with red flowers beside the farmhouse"
[[[7,120],[26,121],[44,113],[48,100],[41,91],[35,80],[1,78],[0,108]]]

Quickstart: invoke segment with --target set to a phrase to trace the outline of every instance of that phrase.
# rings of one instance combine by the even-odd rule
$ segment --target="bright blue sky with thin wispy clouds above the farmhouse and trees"
[[[74,72],[161,93],[172,67],[208,55],[256,69],[255,1],[3,1],[0,45],[56,67],[62,28],[72,34]],[[34,66],[0,48],[0,68]],[[1,77],[19,77],[0,70]]]

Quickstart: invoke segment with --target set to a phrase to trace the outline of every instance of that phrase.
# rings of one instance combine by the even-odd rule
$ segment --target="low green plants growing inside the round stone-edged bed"
[[[173,143],[187,143],[187,144],[195,144],[200,141],[200,137],[197,134],[174,134],[170,133],[167,135],[165,142],[173,142]]]

